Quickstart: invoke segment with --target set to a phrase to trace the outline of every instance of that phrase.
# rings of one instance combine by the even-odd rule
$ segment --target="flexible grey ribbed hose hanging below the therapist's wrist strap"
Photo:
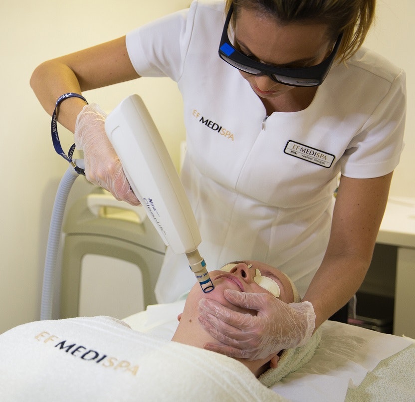
[[[77,161],[80,162],[80,161]],[[83,162],[83,161],[82,161]],[[56,270],[56,260],[62,231],[63,213],[69,191],[79,174],[70,166],[62,177],[53,204],[50,219],[49,236],[47,239],[45,266],[43,271],[42,300],[40,304],[40,320],[52,319],[53,285]]]

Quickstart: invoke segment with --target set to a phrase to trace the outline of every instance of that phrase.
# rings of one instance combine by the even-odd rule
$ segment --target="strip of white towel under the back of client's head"
[[[320,344],[320,340],[321,329],[318,328],[304,346],[284,350],[278,360],[278,367],[275,369],[268,369],[258,380],[265,387],[271,387],[288,374],[297,371],[314,356],[314,353]]]

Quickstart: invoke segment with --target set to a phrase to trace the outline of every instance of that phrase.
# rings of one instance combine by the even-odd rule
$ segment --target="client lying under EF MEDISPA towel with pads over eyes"
[[[313,356],[319,332],[303,347],[236,361],[202,349],[217,341],[200,325],[198,303],[209,297],[226,304],[225,289],[267,292],[291,303],[299,301],[294,285],[256,261],[227,264],[210,278],[211,293],[198,284],[191,289],[174,342],[111,317],[38,321],[6,331],[0,335],[0,400],[284,401],[255,377],[269,387],[297,370]]]

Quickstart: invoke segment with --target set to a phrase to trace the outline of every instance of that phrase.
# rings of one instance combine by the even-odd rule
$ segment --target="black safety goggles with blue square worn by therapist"
[[[229,40],[227,30],[229,26],[230,17],[233,12],[233,4],[230,6],[229,12],[226,16],[225,25],[223,27],[222,37],[220,39],[219,56],[221,59],[229,63],[238,70],[244,71],[253,75],[267,75],[276,82],[284,85],[291,85],[296,87],[310,87],[321,85],[326,78],[336,53],[342,41],[343,33],[341,33],[330,55],[320,64],[310,67],[302,68],[283,68],[275,67],[269,64],[261,63],[252,60],[239,52]]]

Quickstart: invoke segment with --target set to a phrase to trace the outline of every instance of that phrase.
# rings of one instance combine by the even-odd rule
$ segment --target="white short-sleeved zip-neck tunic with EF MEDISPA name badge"
[[[141,76],[169,76],[184,100],[182,181],[208,269],[255,259],[289,275],[303,296],[327,247],[339,173],[392,172],[403,148],[405,73],[367,49],[332,67],[306,109],[265,107],[218,56],[224,1],[194,1],[127,35]],[[195,283],[185,256],[168,250],[160,303]]]

